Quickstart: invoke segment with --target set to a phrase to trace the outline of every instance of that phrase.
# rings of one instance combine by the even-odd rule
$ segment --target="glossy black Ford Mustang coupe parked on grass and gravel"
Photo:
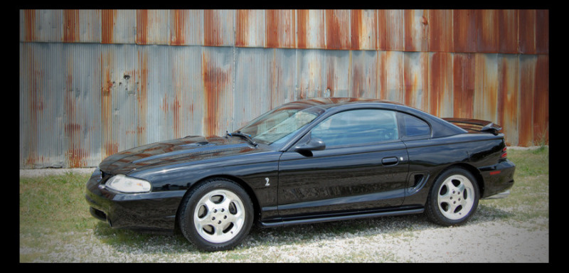
[[[87,182],[112,228],[180,230],[228,250],[264,227],[425,213],[465,223],[480,198],[507,196],[514,164],[491,122],[440,119],[393,102],[290,102],[225,137],[122,151]]]

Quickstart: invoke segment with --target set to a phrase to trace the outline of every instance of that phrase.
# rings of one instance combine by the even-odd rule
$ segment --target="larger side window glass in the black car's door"
[[[312,129],[327,147],[390,141],[399,138],[395,112],[361,109],[334,114]]]

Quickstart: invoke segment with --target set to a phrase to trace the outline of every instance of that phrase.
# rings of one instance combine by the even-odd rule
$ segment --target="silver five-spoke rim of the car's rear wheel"
[[[442,182],[437,203],[446,218],[458,220],[470,213],[474,206],[474,186],[466,176],[455,174]]]

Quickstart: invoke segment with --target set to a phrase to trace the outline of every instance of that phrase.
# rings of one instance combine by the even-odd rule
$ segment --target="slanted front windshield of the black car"
[[[238,130],[262,144],[280,145],[306,124],[318,117],[324,109],[302,104],[287,104],[262,114]]]

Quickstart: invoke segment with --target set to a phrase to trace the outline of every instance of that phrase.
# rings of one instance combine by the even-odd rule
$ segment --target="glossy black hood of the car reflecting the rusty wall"
[[[199,161],[258,151],[266,149],[251,146],[239,137],[192,136],[120,151],[104,159],[99,168],[106,173],[129,173],[133,170],[176,164],[181,161]]]

